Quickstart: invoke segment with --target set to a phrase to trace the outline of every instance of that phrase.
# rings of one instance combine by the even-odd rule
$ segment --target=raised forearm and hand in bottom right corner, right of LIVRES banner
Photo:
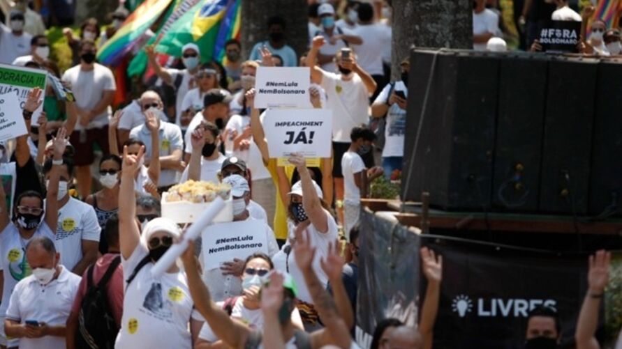
[[[602,249],[597,251],[595,256],[589,257],[588,291],[579,312],[577,332],[575,332],[577,349],[600,348],[595,334],[596,327],[598,327],[600,302],[605,293],[605,286],[609,282],[611,257],[611,253]]]

